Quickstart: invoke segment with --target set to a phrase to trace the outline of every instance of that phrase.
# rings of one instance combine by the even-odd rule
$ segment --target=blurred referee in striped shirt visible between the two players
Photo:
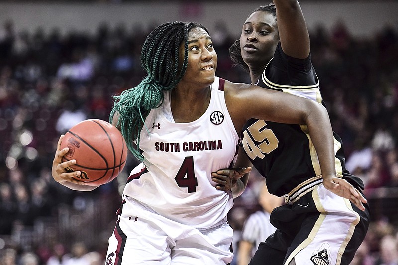
[[[270,223],[270,213],[274,208],[283,204],[283,198],[270,194],[264,180],[259,185],[258,203],[262,210],[252,213],[243,225],[237,265],[249,264],[259,244],[276,230]]]

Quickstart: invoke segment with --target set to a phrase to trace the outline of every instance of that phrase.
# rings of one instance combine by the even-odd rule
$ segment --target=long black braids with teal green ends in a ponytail
[[[113,96],[115,102],[110,112],[110,123],[118,117],[117,127],[133,155],[143,160],[140,153],[140,132],[146,115],[163,102],[163,91],[176,87],[187,70],[188,33],[193,28],[203,28],[195,22],[167,22],[147,36],[141,49],[141,63],[146,77],[134,88]],[[179,63],[180,45],[184,44],[184,60]],[[136,145],[134,144],[136,140]]]

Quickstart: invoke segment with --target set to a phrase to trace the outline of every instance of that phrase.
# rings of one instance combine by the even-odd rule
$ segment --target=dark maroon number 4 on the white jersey
[[[188,188],[188,193],[196,192],[198,178],[195,177],[194,157],[186,157],[184,159],[174,179],[180,188]]]

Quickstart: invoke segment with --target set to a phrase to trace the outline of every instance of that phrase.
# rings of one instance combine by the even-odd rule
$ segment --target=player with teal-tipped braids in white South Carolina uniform
[[[359,202],[349,183],[335,179],[333,135],[325,108],[215,77],[217,54],[204,26],[160,25],[144,42],[141,61],[147,77],[116,96],[110,114],[142,163],[132,170],[123,191],[107,265],[232,261],[232,229],[226,216],[233,198],[231,192],[215,188],[211,172],[233,163],[240,132],[251,117],[307,125],[329,184]],[[79,171],[64,171],[76,163],[61,163],[66,152],[59,147],[56,151],[54,179],[75,190],[95,188],[71,178]]]

